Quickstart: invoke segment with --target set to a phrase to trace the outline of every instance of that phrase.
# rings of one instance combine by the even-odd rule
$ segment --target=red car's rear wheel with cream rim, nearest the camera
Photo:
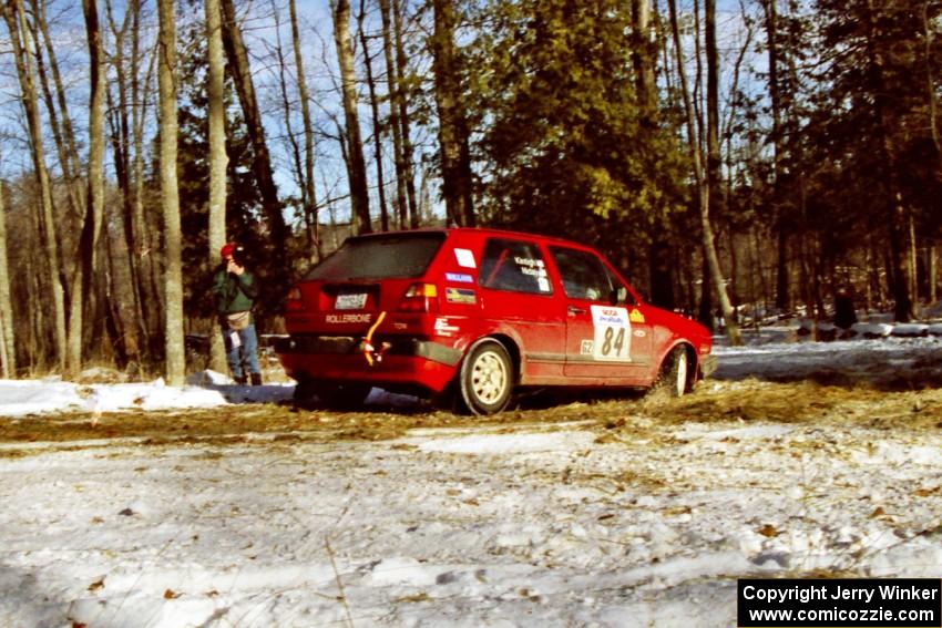
[[[496,340],[485,339],[473,344],[458,377],[463,410],[484,415],[506,408],[513,392],[513,362]]]

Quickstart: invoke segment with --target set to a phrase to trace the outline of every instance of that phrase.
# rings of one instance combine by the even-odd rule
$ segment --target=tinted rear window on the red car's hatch
[[[349,238],[305,279],[350,281],[419,277],[431,264],[443,233],[389,234]]]

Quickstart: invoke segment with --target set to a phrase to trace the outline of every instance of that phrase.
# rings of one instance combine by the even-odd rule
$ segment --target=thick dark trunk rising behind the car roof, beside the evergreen
[[[449,223],[474,226],[468,122],[461,103],[461,79],[454,45],[453,0],[433,0],[436,103],[439,116],[442,191]]]

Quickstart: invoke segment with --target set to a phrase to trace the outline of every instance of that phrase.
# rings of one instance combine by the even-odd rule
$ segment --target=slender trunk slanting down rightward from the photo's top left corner
[[[52,290],[52,307],[55,323],[55,362],[59,369],[65,370],[66,336],[65,336],[65,297],[62,278],[59,274],[59,245],[55,235],[55,219],[52,210],[52,188],[49,182],[49,171],[45,167],[45,154],[42,142],[42,121],[40,120],[37,103],[35,86],[33,83],[33,71],[29,62],[29,51],[21,44],[20,33],[24,22],[23,7],[20,0],[9,0],[2,4],[3,19],[10,31],[10,43],[13,48],[13,58],[17,63],[17,74],[20,80],[20,89],[23,99],[23,109],[27,112],[27,122],[30,130],[32,143],[32,159],[35,176],[40,189],[40,229],[43,234],[47,262],[49,264],[50,287]]]

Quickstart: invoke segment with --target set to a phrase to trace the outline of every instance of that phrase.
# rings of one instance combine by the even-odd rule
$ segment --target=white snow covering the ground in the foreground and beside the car
[[[717,377],[928,373],[940,348],[718,347]],[[290,394],[168,389],[0,382],[0,414]],[[668,424],[632,402],[622,419],[375,443],[3,444],[0,625],[733,626],[737,577],[940,576],[938,431]]]

